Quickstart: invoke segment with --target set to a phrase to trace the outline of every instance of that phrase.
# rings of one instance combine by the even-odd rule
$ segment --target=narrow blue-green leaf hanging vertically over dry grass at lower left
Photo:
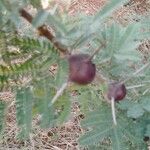
[[[21,128],[18,135],[20,139],[29,138],[32,128],[32,105],[31,89],[28,87],[18,90],[16,94],[16,116],[17,124]]]

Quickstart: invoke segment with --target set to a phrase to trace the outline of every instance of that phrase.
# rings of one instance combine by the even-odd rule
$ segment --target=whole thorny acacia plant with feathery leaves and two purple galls
[[[93,16],[70,16],[55,5],[43,9],[39,0],[0,1],[0,88],[15,93],[21,140],[37,114],[42,128],[66,122],[77,90],[87,131],[81,147],[147,149],[150,57],[143,63],[138,47],[150,38],[150,17],[134,14],[128,25],[116,23],[113,12],[127,3],[111,0]],[[0,101],[1,134],[9,105]]]

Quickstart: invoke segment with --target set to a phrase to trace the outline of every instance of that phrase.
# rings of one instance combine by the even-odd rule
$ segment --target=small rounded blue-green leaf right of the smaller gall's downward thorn
[[[140,104],[134,104],[132,107],[129,107],[127,111],[127,116],[131,118],[139,118],[144,114],[144,110]]]

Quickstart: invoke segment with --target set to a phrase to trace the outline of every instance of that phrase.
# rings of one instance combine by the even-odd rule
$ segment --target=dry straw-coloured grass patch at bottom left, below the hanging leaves
[[[17,140],[15,105],[12,105],[7,114],[6,129],[0,141],[0,150],[78,150],[77,139],[83,132],[80,127],[78,104],[74,103],[70,120],[61,127],[41,129],[38,116],[33,120],[33,133],[26,142]]]

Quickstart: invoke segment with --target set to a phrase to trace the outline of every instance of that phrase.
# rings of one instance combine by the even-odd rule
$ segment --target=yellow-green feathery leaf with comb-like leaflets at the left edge
[[[10,41],[13,47],[19,47],[20,49],[14,53],[5,48],[2,54],[2,58],[5,62],[7,61],[8,66],[0,65],[0,75],[8,79],[18,78],[18,75],[29,73],[39,77],[39,74],[48,72],[51,64],[56,62],[56,58],[59,57],[57,50],[47,41],[27,37],[18,38],[16,36]],[[21,60],[21,62],[11,63],[16,60]]]

